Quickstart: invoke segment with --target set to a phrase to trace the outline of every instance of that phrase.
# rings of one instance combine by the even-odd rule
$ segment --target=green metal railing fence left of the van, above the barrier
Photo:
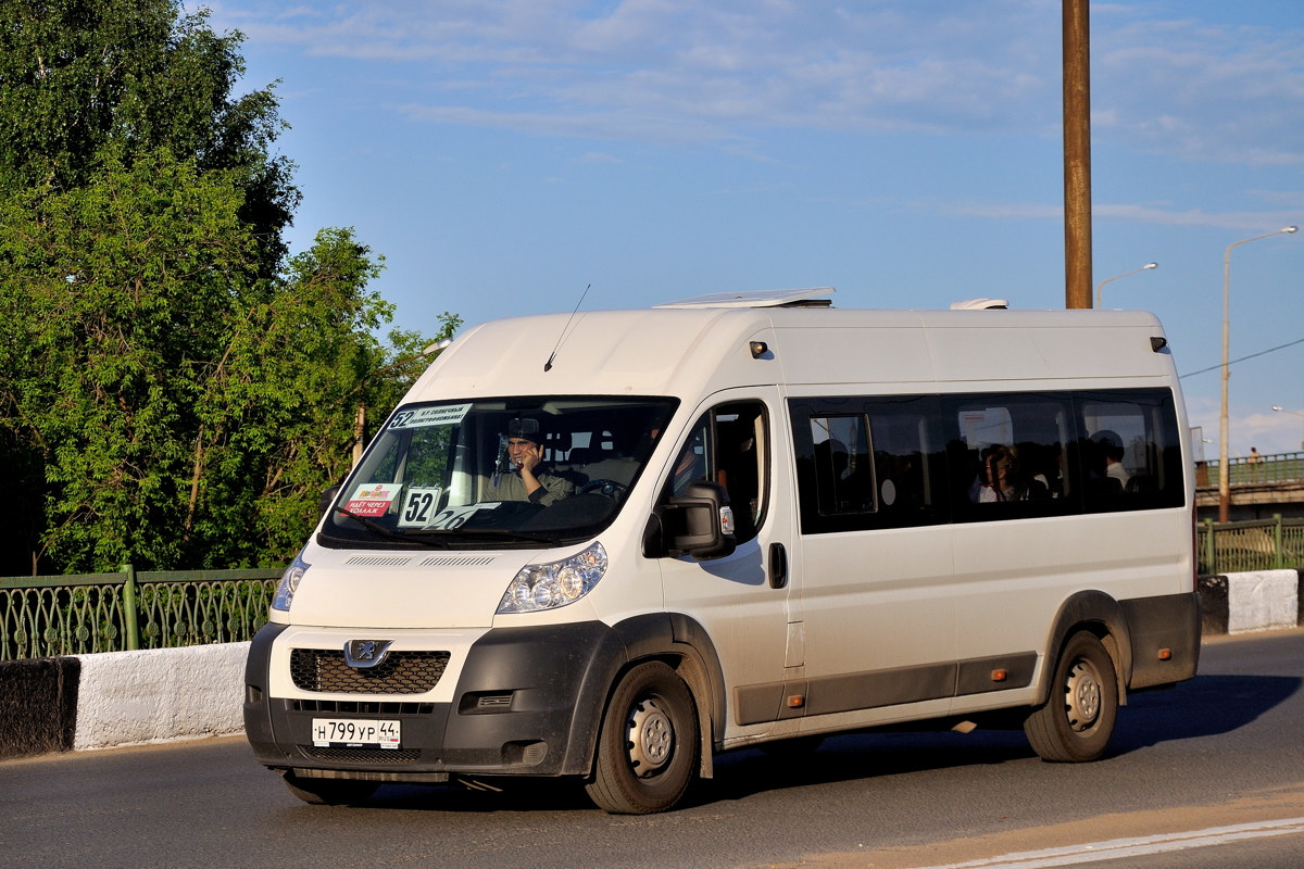
[[[283,569],[0,578],[0,661],[249,640]]]

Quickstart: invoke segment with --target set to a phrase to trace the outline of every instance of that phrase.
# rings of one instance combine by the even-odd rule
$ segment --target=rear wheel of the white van
[[[1045,761],[1094,761],[1108,749],[1118,714],[1114,659],[1094,633],[1078,631],[1064,645],[1050,697],[1024,722],[1024,734]]]

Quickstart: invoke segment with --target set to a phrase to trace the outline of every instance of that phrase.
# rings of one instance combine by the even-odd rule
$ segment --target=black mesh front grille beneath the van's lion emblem
[[[349,667],[343,649],[292,649],[289,676],[300,691],[342,694],[421,694],[439,684],[447,651],[391,651],[374,667]]]

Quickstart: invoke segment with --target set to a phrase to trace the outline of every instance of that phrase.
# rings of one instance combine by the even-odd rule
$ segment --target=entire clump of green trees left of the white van
[[[0,3],[0,572],[283,563],[426,343],[377,339],[351,231],[288,255],[239,43],[171,0]]]

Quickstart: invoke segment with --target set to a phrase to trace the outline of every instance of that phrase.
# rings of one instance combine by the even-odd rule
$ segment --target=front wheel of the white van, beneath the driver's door
[[[698,720],[689,687],[669,666],[634,667],[617,685],[597,735],[588,796],[612,814],[674,806],[698,770]]]

